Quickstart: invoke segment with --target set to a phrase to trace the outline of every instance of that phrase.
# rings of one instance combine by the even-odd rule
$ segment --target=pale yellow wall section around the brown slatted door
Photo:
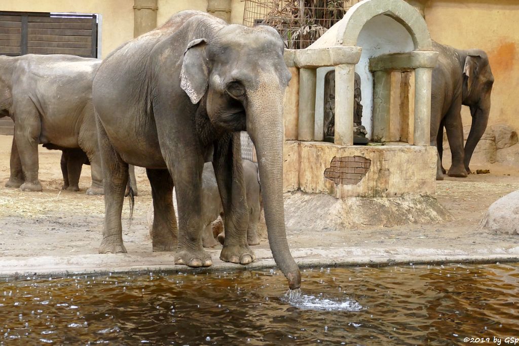
[[[102,15],[101,58],[133,38],[133,0],[16,0],[0,2],[3,11],[78,12]]]

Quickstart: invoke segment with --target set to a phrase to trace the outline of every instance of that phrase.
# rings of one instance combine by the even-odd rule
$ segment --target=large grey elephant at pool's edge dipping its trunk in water
[[[290,78],[274,29],[227,25],[199,11],[179,12],[108,56],[92,94],[105,182],[100,253],[126,252],[121,210],[128,164],[134,164],[146,168],[152,186],[153,250],[177,246],[175,264],[212,265],[200,221],[203,164],[212,159],[226,215],[220,258],[255,260],[246,237],[238,132],[247,130],[257,150],[270,248],[290,288],[298,288],[282,195],[282,100]]]

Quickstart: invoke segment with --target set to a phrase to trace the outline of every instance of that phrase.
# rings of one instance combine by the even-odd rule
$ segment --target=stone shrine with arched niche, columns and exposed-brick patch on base
[[[284,191],[337,199],[434,195],[436,149],[429,129],[437,60],[424,18],[403,0],[364,0],[308,48],[286,50],[292,80],[284,100]],[[335,136],[327,143],[323,89],[331,70]],[[412,91],[406,126],[394,110],[395,73],[407,73],[398,84],[406,81],[405,90]],[[353,145],[356,74],[362,124],[376,145]],[[410,133],[399,135],[399,143],[392,143],[395,126]]]

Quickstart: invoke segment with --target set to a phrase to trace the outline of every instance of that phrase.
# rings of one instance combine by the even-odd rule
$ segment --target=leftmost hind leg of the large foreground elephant
[[[108,140],[101,123],[98,124],[99,154],[104,178],[104,227],[100,254],[126,253],[122,244],[121,213],[128,181],[128,164],[123,162]]]

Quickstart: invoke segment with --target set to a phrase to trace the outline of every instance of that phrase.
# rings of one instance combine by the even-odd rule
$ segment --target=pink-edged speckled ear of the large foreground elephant
[[[197,104],[207,91],[209,66],[206,55],[207,40],[199,38],[187,45],[180,72],[180,87]]]

